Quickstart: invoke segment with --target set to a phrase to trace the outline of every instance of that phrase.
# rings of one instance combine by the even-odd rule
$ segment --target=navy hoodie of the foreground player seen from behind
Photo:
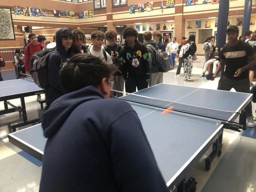
[[[56,99],[42,116],[48,138],[40,192],[167,192],[137,113],[93,86]]]

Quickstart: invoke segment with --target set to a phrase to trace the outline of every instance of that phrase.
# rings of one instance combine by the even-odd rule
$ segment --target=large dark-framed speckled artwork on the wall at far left
[[[15,40],[11,9],[0,8],[0,15],[0,40]]]

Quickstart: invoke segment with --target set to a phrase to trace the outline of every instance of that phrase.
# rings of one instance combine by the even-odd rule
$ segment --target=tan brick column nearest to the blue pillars
[[[175,37],[180,43],[185,36],[185,20],[183,19],[183,0],[175,0]]]

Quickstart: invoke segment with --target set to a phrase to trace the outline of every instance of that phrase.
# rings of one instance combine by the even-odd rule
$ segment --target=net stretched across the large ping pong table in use
[[[239,124],[239,112],[202,108],[135,94],[128,94],[124,97],[120,97],[119,99],[163,109],[167,109],[172,106],[174,108],[173,111]]]

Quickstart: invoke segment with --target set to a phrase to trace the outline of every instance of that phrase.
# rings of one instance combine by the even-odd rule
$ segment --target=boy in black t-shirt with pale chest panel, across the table
[[[230,26],[227,29],[229,44],[221,51],[221,61],[212,76],[214,80],[221,68],[226,65],[226,70],[218,82],[218,90],[230,91],[234,88],[237,92],[250,93],[249,69],[256,64],[256,54],[253,48],[243,41],[238,40],[239,29],[237,26]],[[248,63],[248,57],[250,62]],[[247,113],[247,126],[253,128],[252,104],[245,108]]]

